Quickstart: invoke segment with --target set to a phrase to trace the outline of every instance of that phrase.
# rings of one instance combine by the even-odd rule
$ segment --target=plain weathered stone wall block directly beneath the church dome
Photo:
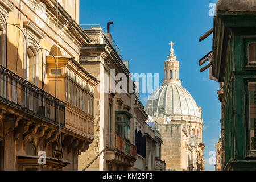
[[[181,124],[156,125],[162,135],[162,160],[166,170],[181,170]]]

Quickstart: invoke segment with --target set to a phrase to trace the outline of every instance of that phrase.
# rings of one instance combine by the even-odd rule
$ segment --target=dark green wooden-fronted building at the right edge
[[[202,36],[213,34],[212,60],[205,68],[220,83],[217,93],[225,171],[256,169],[255,12],[254,0],[219,0],[214,27]]]

